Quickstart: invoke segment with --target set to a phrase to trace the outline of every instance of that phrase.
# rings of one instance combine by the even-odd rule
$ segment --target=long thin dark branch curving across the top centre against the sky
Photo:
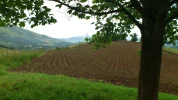
[[[54,2],[60,3],[64,6],[68,7],[69,9],[72,9],[72,10],[75,10],[75,11],[78,11],[78,12],[82,12],[82,13],[85,13],[85,14],[91,14],[91,15],[106,15],[106,14],[117,13],[117,12],[122,11],[121,9],[117,9],[117,10],[111,10],[111,11],[108,11],[108,12],[90,12],[90,11],[82,10],[79,7],[73,7],[69,4],[66,4],[66,3],[60,1],[60,0],[49,0],[49,1],[54,1]]]

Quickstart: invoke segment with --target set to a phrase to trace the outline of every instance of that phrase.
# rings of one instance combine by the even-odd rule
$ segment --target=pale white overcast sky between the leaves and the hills
[[[45,0],[45,5],[52,9],[52,13],[58,22],[51,25],[36,26],[34,28],[31,28],[30,25],[27,24],[25,29],[53,38],[86,36],[86,34],[91,36],[92,34],[96,33],[95,26],[90,24],[91,22],[95,21],[94,19],[81,20],[75,16],[70,18],[69,15],[65,12],[65,7],[62,7],[62,9],[55,8],[56,3],[52,1]],[[140,31],[138,28],[132,30],[132,33],[134,32],[138,33],[140,37]]]

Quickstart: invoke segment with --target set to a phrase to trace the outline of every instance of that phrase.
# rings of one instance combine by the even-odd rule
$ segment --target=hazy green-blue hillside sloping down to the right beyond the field
[[[0,27],[0,47],[8,49],[38,49],[66,47],[72,43],[40,35],[19,27]]]

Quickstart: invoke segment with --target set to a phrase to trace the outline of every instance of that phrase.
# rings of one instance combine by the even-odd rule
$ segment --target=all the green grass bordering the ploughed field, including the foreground
[[[136,88],[63,75],[6,71],[41,54],[43,52],[23,52],[18,60],[12,56],[0,63],[4,69],[4,74],[0,74],[0,100],[136,100]],[[178,96],[160,93],[159,100],[178,100]]]

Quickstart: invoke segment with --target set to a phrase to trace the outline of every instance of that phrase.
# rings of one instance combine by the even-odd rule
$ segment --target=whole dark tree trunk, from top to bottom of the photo
[[[142,0],[142,46],[137,100],[158,100],[162,42],[169,0]]]

